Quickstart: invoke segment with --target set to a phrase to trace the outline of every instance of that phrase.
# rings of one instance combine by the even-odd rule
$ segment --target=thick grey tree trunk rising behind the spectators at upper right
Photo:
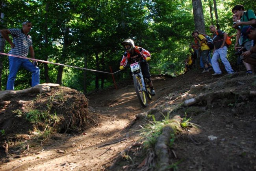
[[[201,0],[192,0],[195,29],[205,34],[204,13]]]

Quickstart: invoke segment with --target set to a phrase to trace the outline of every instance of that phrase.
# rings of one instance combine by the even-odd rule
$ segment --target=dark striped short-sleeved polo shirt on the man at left
[[[30,35],[26,36],[22,29],[9,29],[13,37],[14,48],[11,48],[9,54],[26,57],[28,55],[29,47],[32,46],[32,38]]]

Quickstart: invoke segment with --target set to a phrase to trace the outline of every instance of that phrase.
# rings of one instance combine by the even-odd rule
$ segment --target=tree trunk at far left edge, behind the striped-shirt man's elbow
[[[2,7],[5,6],[5,4],[1,3]],[[2,26],[4,27],[4,13],[0,14],[0,23],[1,27],[0,29],[3,29]],[[4,53],[4,47],[6,45],[6,40],[2,37],[0,33],[0,52]],[[4,60],[4,55],[0,55],[0,90],[2,90],[2,73],[3,73],[3,60]]]

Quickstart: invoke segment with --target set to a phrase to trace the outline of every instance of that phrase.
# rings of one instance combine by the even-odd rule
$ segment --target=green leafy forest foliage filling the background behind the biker
[[[6,28],[21,28],[21,23],[30,20],[33,29],[35,58],[67,65],[85,67],[109,72],[119,70],[124,49],[121,46],[125,38],[134,39],[135,45],[147,49],[151,55],[150,72],[153,75],[172,76],[184,72],[184,59],[193,43],[191,31],[194,29],[193,8],[190,0],[129,0],[129,1],[3,1],[3,25]],[[243,0],[216,0],[221,29],[228,35],[236,34],[232,28],[231,9],[243,4],[245,9],[255,11],[255,3]],[[210,19],[212,0],[202,1],[207,34],[211,35],[210,24],[216,24],[215,12]],[[12,9],[15,10],[13,13]],[[35,9],[31,11],[30,9]],[[24,13],[30,11],[30,13]],[[235,38],[232,38],[233,42]],[[236,62],[234,43],[228,50],[228,59]],[[10,49],[6,43],[5,52]],[[96,56],[98,59],[96,60]],[[30,56],[28,56],[30,57]],[[6,88],[8,60],[4,57],[2,70],[2,89]],[[102,88],[113,85],[111,75],[94,73],[58,65],[39,64],[40,82],[55,83],[62,76],[63,86],[78,91],[93,91],[95,85]],[[59,72],[59,73],[58,73]],[[98,77],[97,77],[98,76]],[[127,78],[126,72],[115,75],[116,81]],[[101,81],[104,80],[103,81]],[[103,84],[104,83],[104,84]],[[31,86],[31,73],[21,69],[17,74],[15,89]],[[85,89],[87,87],[87,89]]]

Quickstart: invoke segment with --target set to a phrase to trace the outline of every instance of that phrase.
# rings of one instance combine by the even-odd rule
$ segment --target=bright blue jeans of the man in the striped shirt
[[[14,81],[16,79],[17,72],[20,66],[24,67],[26,70],[32,72],[32,87],[39,84],[39,67],[36,67],[28,59],[17,58],[13,56],[8,56],[9,58],[9,76],[7,80],[7,90],[14,90]]]

